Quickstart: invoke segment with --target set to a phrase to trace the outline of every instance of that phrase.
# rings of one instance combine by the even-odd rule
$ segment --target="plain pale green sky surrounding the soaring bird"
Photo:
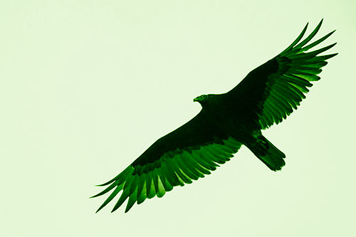
[[[355,236],[355,1],[3,1],[0,236]],[[94,186],[283,51],[305,23],[340,53],[228,164],[127,214]],[[310,32],[310,29],[308,32]]]

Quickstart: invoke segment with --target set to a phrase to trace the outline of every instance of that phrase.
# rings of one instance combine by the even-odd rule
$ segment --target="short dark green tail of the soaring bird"
[[[258,136],[252,144],[246,144],[248,149],[258,157],[268,168],[273,171],[281,170],[286,164],[283,154],[277,147],[275,147],[266,137]]]

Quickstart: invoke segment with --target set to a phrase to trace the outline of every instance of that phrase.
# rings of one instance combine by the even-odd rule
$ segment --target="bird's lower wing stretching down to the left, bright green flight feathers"
[[[113,191],[98,211],[122,191],[112,211],[129,198],[127,212],[135,202],[141,204],[147,198],[162,197],[174,186],[190,184],[229,161],[241,143],[209,124],[204,116],[200,112],[182,127],[161,137],[117,177],[101,184],[110,186],[93,197]]]

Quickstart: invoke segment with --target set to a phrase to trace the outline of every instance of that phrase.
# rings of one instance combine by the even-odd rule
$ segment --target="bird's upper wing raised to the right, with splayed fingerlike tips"
[[[309,43],[318,33],[323,20],[315,30],[303,41],[308,23],[298,38],[278,56],[252,70],[236,87],[224,94],[231,106],[239,102],[239,107],[248,118],[252,118],[258,128],[266,129],[274,123],[278,124],[296,110],[300,101],[305,98],[316,80],[321,68],[327,64],[325,60],[337,53],[318,56],[335,46],[336,43],[308,52],[314,46],[325,41],[334,31]],[[309,44],[308,44],[309,43]],[[308,45],[307,45],[308,44]]]

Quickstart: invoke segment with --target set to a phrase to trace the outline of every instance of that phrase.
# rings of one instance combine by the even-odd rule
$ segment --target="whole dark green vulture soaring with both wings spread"
[[[262,130],[296,110],[308,88],[320,80],[318,74],[326,60],[337,55],[320,56],[336,43],[310,51],[335,32],[310,43],[322,23],[323,19],[302,41],[307,23],[290,46],[251,70],[229,92],[194,98],[201,110],[192,120],[157,139],[120,174],[98,185],[107,187],[90,198],[112,192],[96,212],[120,191],[112,212],[128,199],[126,213],[135,203],[160,198],[174,186],[191,184],[228,162],[243,145],[272,171],[281,170],[286,155],[262,135]]]

